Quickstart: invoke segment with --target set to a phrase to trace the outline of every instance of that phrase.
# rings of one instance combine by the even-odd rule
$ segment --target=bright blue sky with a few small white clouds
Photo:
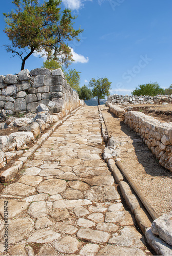
[[[42,1],[42,0],[40,0]],[[10,44],[3,32],[3,12],[14,8],[12,0],[1,3],[0,74],[20,72],[21,59],[11,57],[3,45]],[[70,68],[81,72],[81,84],[91,78],[107,77],[111,94],[131,94],[139,84],[158,82],[161,88],[172,83],[172,1],[171,0],[63,0],[71,8],[74,28],[84,32],[80,42],[73,41],[75,62]],[[29,57],[25,68],[43,66],[43,58]]]

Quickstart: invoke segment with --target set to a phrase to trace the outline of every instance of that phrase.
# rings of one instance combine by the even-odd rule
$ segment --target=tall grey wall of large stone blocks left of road
[[[54,108],[54,112],[71,111],[83,104],[61,69],[34,69],[30,72],[25,69],[18,75],[0,76],[0,112],[3,115],[34,112],[40,103]]]

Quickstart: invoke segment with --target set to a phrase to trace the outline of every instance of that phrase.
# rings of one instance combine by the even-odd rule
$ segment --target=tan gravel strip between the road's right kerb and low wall
[[[139,108],[144,108],[143,112],[146,110],[143,105]],[[100,109],[105,118],[108,133],[120,141],[118,148],[121,164],[127,174],[136,183],[156,214],[158,216],[167,214],[172,210],[172,173],[158,163],[140,136],[122,119],[110,113],[103,105]],[[166,119],[163,114],[162,118]]]

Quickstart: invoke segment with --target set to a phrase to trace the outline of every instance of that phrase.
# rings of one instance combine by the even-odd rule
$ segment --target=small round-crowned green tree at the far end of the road
[[[105,96],[109,96],[111,82],[107,77],[102,77],[98,80],[92,78],[89,81],[89,86],[92,87],[92,96],[98,99],[98,105],[100,105],[100,99],[105,99]]]

